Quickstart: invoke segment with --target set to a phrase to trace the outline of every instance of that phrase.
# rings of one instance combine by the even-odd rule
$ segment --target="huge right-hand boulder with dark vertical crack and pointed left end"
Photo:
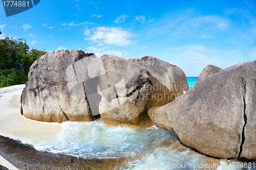
[[[203,154],[256,159],[256,61],[228,67],[148,114],[167,115],[161,126]]]

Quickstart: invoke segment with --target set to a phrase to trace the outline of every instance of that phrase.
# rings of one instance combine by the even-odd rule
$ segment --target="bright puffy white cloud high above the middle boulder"
[[[128,31],[124,31],[121,28],[114,27],[98,27],[94,30],[85,30],[84,35],[88,37],[84,40],[92,40],[99,44],[109,44],[109,45],[120,45],[125,46],[131,43],[129,40],[132,37],[132,34]]]

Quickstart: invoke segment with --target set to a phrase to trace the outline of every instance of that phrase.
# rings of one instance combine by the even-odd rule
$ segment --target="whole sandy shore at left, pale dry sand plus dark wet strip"
[[[25,85],[17,85],[0,89],[1,165],[13,170],[80,169],[80,167],[84,169],[114,169],[126,161],[135,159],[126,157],[117,159],[82,159],[35,150],[31,144],[42,140],[52,140],[55,134],[61,131],[61,124],[37,122],[22,116],[19,113],[19,97],[24,87]]]

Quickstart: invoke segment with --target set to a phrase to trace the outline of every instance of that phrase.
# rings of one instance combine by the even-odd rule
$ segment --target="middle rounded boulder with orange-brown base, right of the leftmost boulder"
[[[143,64],[109,55],[103,55],[92,61],[89,66],[89,76],[97,82],[98,93],[102,96],[99,112],[105,124],[152,126],[155,123],[148,116],[147,110],[172,102],[178,95],[183,94],[183,90],[187,90],[185,74],[179,67],[154,57],[150,58],[152,60],[147,63],[136,59],[143,61]],[[169,77],[176,79],[167,82],[154,77],[161,75],[160,71],[153,72],[154,68],[150,68],[155,61],[157,62],[155,64],[163,66],[163,70],[162,67],[158,70],[162,72],[164,69],[172,70],[165,76],[169,74]],[[163,65],[160,65],[161,62]],[[173,84],[179,85],[179,89],[169,89],[165,84],[169,87]]]

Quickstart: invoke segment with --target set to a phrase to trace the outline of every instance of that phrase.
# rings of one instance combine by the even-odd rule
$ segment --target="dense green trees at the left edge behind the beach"
[[[0,40],[0,87],[26,83],[30,66],[46,53],[30,50],[25,38]]]

